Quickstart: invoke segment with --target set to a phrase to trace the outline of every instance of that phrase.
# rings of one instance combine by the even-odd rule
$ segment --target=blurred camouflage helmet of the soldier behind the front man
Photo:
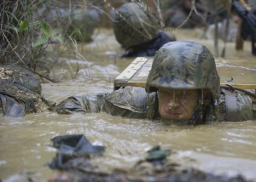
[[[157,19],[141,3],[125,3],[113,14],[113,31],[123,48],[131,48],[158,35]]]

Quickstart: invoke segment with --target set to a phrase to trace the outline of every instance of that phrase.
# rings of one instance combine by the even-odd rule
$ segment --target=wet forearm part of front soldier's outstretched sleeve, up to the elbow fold
[[[74,112],[99,112],[107,94],[92,94],[84,96],[72,96],[61,101],[60,104],[49,108],[59,114],[73,114]]]

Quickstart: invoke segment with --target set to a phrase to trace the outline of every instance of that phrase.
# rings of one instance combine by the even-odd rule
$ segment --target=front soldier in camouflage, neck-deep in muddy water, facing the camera
[[[253,90],[220,87],[207,47],[175,41],[156,52],[146,88],[126,86],[111,93],[73,96],[50,110],[60,114],[105,111],[120,117],[200,124],[253,120],[253,100]]]

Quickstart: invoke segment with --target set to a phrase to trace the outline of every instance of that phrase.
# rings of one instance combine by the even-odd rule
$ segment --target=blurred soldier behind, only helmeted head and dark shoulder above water
[[[113,12],[113,32],[125,53],[121,57],[154,56],[176,38],[160,31],[160,21],[142,3],[124,3]]]

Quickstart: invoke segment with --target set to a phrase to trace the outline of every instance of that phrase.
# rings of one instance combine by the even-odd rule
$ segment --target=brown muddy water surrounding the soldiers
[[[201,31],[173,31],[177,40],[204,43],[214,52],[213,41],[200,39]],[[223,43],[219,40],[219,51]],[[74,94],[113,90],[113,79],[133,59],[114,59],[120,54],[112,31],[97,31],[93,43],[78,47],[79,59],[67,53],[51,76],[58,83],[42,84],[44,98],[59,103]],[[256,84],[256,57],[250,43],[236,52],[227,44],[226,57],[217,58],[221,82]],[[256,181],[256,121],[217,122],[196,127],[156,121],[112,117],[105,113],[58,115],[49,111],[23,118],[0,119],[0,179],[47,181],[57,171],[47,167],[55,156],[50,139],[62,134],[84,134],[91,143],[106,146],[103,157],[93,160],[102,170],[131,168],[153,145],[172,150],[170,160],[212,173],[236,175]]]

